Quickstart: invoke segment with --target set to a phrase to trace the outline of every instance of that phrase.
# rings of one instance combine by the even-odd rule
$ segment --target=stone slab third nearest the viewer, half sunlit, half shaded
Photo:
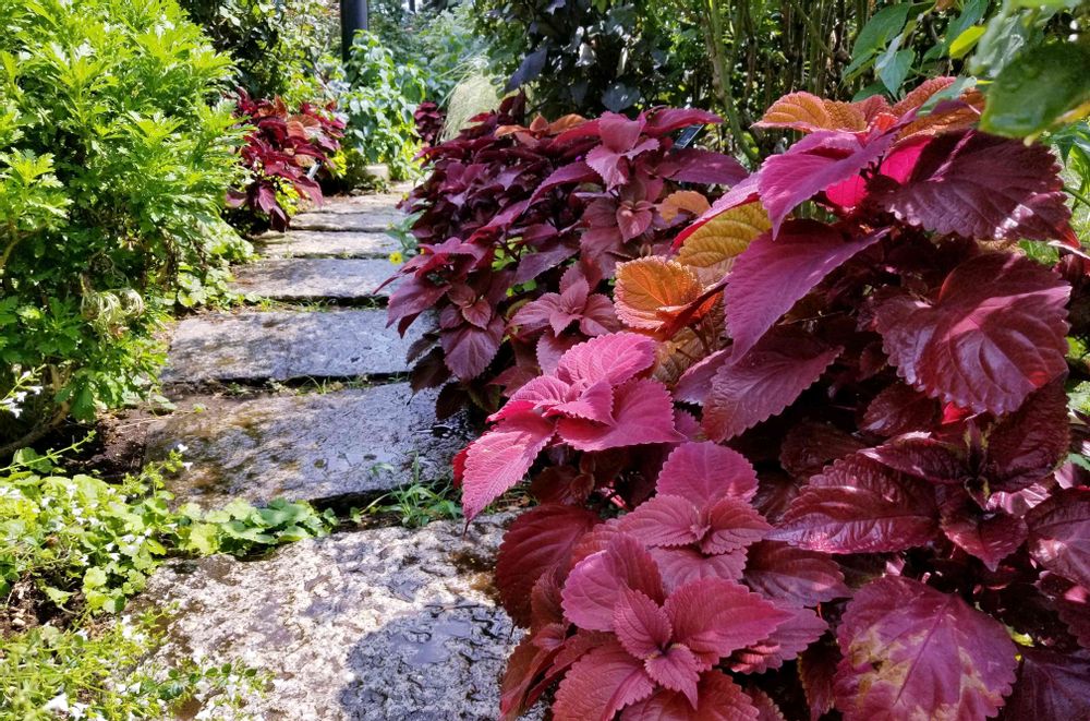
[[[384,310],[217,313],[181,321],[170,344],[166,383],[349,378],[405,373],[404,338]],[[422,326],[421,326],[422,327]]]

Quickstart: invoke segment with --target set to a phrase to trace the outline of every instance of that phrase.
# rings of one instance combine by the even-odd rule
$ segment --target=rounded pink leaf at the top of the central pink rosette
[[[750,501],[756,495],[756,471],[732,448],[711,442],[683,443],[666,458],[655,488],[697,506],[725,495]]]

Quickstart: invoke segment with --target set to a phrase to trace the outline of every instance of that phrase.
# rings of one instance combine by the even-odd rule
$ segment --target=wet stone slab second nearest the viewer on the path
[[[234,497],[320,501],[449,478],[468,442],[460,417],[435,419],[435,393],[407,383],[249,400],[190,398],[203,412],[174,413],[148,428],[147,457],[179,444],[191,464],[167,480],[179,504],[219,506]]]

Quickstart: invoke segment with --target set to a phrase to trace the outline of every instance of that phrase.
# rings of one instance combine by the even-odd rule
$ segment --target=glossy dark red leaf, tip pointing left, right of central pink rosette
[[[814,476],[768,538],[825,553],[903,551],[929,542],[937,520],[925,481],[857,454]]]

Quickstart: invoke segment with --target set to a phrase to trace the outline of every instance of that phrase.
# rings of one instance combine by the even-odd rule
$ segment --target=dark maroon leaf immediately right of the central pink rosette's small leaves
[[[761,541],[749,548],[742,578],[754,591],[797,605],[815,605],[850,594],[835,561],[777,541]]]

